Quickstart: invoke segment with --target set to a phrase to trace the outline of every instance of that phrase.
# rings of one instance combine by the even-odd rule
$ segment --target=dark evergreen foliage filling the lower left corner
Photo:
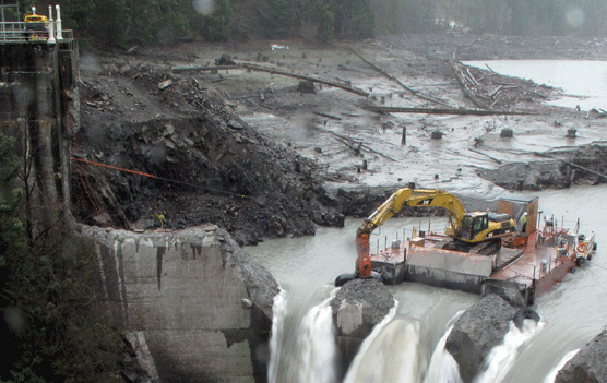
[[[121,382],[122,348],[96,296],[94,247],[61,226],[31,243],[22,224],[21,164],[0,133],[0,308],[2,382]]]

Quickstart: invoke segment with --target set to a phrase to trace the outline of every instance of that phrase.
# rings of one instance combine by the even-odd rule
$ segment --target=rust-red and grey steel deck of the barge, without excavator
[[[539,242],[538,232],[544,238]],[[523,249],[502,247],[490,253],[484,253],[484,246],[469,252],[444,250],[441,247],[451,239],[427,232],[424,238],[394,241],[386,249],[377,249],[371,263],[374,270],[383,268],[383,273],[392,275],[394,284],[419,282],[480,294],[483,285],[491,282],[516,286],[525,296],[528,291],[538,296],[575,266],[570,258],[557,256],[554,239],[561,232],[552,228],[549,232],[535,231]]]

